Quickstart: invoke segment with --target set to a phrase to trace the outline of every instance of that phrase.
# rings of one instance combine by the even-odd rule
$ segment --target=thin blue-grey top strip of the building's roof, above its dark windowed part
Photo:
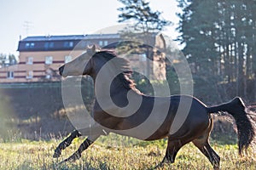
[[[26,37],[20,42],[38,42],[38,41],[69,41],[69,40],[90,40],[90,39],[108,39],[119,38],[119,34],[85,34],[85,35],[69,35],[69,36],[35,36]]]

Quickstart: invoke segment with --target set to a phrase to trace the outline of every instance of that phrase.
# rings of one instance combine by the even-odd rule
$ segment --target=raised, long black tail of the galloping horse
[[[239,154],[241,155],[241,150],[247,150],[249,144],[251,144],[253,141],[255,133],[253,122],[251,122],[250,118],[248,117],[246,106],[241,98],[236,97],[228,103],[207,107],[207,111],[208,113],[226,111],[233,116],[236,120]]]

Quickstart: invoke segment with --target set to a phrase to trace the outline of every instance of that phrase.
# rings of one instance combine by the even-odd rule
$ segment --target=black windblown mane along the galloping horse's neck
[[[133,90],[136,90],[138,93],[140,93],[139,90],[135,87],[136,85],[135,82],[131,78],[131,74],[132,74],[131,65],[127,59],[117,56],[117,54],[115,54],[111,50],[102,50],[100,52],[97,52],[96,56],[97,57],[101,56],[103,59],[106,59],[106,63],[111,62],[111,64],[113,65],[113,69],[121,72],[117,77],[122,82],[125,88],[133,89]]]

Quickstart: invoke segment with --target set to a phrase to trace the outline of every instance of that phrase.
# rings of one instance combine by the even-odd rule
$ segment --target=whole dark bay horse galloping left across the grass
[[[90,116],[97,123],[84,130],[88,138],[79,146],[79,150],[64,161],[79,159],[83,150],[99,136],[113,132],[143,140],[168,138],[166,155],[160,164],[166,161],[173,163],[177,151],[184,144],[192,142],[207,156],[214,169],[219,169],[220,157],[208,141],[213,126],[212,113],[218,111],[227,112],[235,118],[240,154],[253,141],[254,125],[247,116],[241,98],[208,107],[189,95],[152,97],[141,94],[131,79],[129,62],[112,51],[96,52],[93,46],[77,59],[62,65],[59,71],[62,77],[89,75],[96,91],[96,101]],[[187,114],[183,115],[183,112]],[[179,115],[183,115],[180,116],[183,120],[175,120]],[[177,126],[174,126],[175,123]],[[84,133],[74,130],[55,149],[54,157],[59,157],[61,150]]]

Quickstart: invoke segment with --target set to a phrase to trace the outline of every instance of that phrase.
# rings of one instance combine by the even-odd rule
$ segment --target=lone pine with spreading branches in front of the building
[[[132,50],[138,49],[139,53],[144,53],[148,59],[152,59],[155,36],[165,26],[171,25],[171,22],[161,18],[161,13],[152,10],[145,0],[119,0],[119,2],[124,5],[124,7],[118,8],[121,13],[119,14],[119,22],[133,21],[134,23],[120,32],[121,37],[125,40],[146,44],[144,48],[142,46],[140,48],[132,47]],[[134,45],[137,44],[133,43]],[[151,74],[148,65],[147,60],[147,76]]]

